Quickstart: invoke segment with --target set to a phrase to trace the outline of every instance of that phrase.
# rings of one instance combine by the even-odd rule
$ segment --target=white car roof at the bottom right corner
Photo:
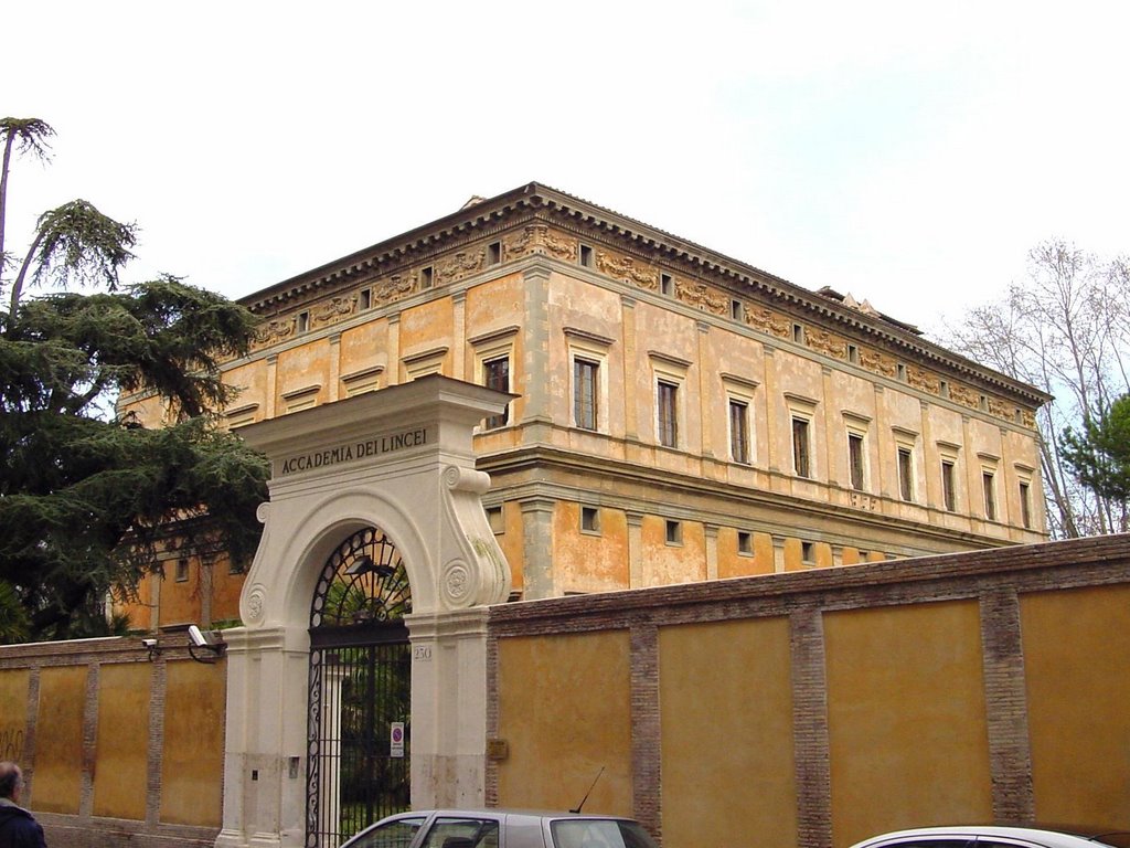
[[[1130,832],[971,825],[915,828],[864,839],[852,848],[1130,848]]]

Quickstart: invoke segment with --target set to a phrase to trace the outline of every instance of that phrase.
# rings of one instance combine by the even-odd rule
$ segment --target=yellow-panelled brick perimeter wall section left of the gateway
[[[0,648],[0,756],[49,846],[211,846],[224,779],[226,663],[184,634]]]

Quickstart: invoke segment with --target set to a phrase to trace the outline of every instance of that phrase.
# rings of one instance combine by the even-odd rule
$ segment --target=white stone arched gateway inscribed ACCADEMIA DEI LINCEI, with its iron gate
[[[388,765],[377,749],[391,754],[401,719],[377,719],[362,691],[376,698],[390,675],[410,678],[411,804],[483,803],[486,607],[506,599],[510,569],[483,510],[489,478],[475,470],[471,436],[512,397],[435,375],[241,431],[272,475],[244,626],[225,632],[218,848],[337,845],[358,795],[402,803],[395,779],[377,775]],[[382,658],[381,644],[394,647]],[[347,721],[368,726],[350,736]],[[344,784],[368,778],[367,788]],[[364,801],[363,819],[381,812]]]

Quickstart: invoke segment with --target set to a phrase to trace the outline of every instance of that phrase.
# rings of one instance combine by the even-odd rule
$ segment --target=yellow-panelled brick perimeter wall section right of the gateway
[[[494,607],[488,802],[663,848],[1130,829],[1130,537]],[[602,771],[601,771],[602,770]]]

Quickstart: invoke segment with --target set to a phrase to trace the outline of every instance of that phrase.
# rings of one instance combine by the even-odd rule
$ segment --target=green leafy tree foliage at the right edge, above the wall
[[[1060,438],[1063,459],[1079,482],[1099,497],[1130,502],[1130,395],[1123,395],[1080,432]]]

